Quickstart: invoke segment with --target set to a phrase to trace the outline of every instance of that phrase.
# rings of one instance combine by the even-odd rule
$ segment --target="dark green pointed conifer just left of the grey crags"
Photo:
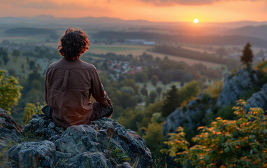
[[[168,90],[166,94],[166,99],[162,106],[162,116],[167,117],[169,114],[179,106],[179,94],[175,85],[171,86],[171,90]]]

